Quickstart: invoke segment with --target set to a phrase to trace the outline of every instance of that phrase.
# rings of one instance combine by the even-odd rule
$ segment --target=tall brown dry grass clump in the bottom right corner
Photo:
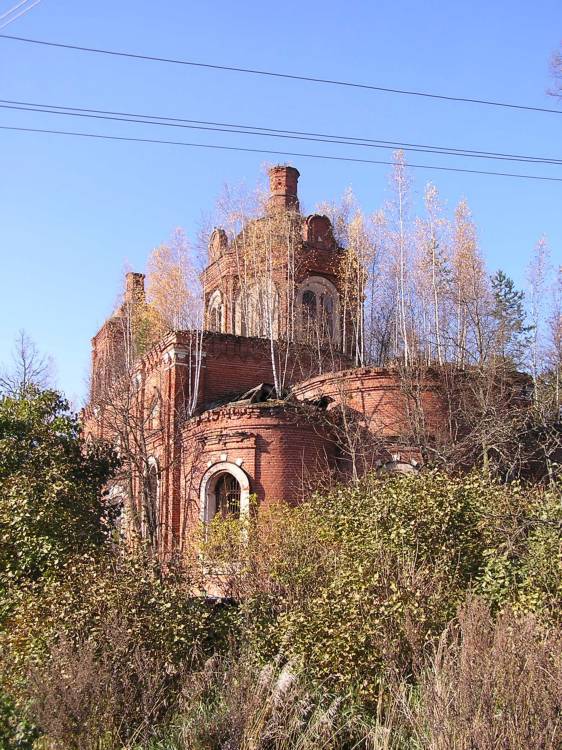
[[[407,708],[424,750],[562,747],[562,633],[469,601],[442,635]],[[405,704],[404,704],[405,705]]]

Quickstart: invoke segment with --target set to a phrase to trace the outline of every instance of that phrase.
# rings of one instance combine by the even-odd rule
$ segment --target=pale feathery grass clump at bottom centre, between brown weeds
[[[372,731],[341,698],[311,689],[290,663],[260,667],[242,652],[214,657],[186,680],[173,746],[329,750],[368,746]]]

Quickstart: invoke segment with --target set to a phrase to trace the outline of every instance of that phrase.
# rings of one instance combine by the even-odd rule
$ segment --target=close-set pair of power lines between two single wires
[[[0,109],[13,109],[22,112],[40,112],[43,114],[65,115],[68,117],[88,117],[97,120],[111,120],[114,122],[131,122],[143,125],[158,125],[164,127],[187,128],[189,130],[207,130],[221,133],[236,133],[241,135],[259,135],[264,137],[285,138],[290,140],[313,141],[316,143],[333,143],[348,146],[363,146],[380,149],[401,148],[404,151],[417,153],[441,154],[444,156],[462,156],[478,159],[494,159],[499,161],[516,161],[528,164],[562,164],[562,159],[554,157],[526,156],[521,154],[505,154],[493,151],[476,151],[472,149],[449,148],[446,146],[431,146],[425,144],[403,143],[400,141],[381,141],[370,138],[353,136],[328,135],[325,133],[309,133],[305,131],[282,130],[279,128],[262,128],[255,125],[239,125],[228,122],[212,122],[208,120],[189,120],[180,117],[163,117],[160,115],[144,115],[131,112],[112,112],[110,110],[88,109],[84,107],[63,107],[56,104],[41,104],[37,102],[21,102],[10,99],[0,99]]]

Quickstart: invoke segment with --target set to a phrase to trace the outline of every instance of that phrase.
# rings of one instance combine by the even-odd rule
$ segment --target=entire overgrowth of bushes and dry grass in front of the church
[[[370,474],[163,569],[56,393],[0,400],[0,455],[2,747],[560,746],[556,485]]]

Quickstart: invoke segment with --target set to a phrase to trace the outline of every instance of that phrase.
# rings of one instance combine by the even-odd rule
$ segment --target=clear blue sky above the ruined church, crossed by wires
[[[0,0],[0,15],[15,0]],[[4,33],[453,96],[560,107],[548,59],[560,0],[145,2],[42,0]],[[0,32],[2,33],[2,32]],[[562,116],[117,59],[0,39],[0,98],[239,122],[562,158]],[[0,110],[0,124],[74,129],[343,156],[385,152],[81,122]],[[78,120],[78,121],[77,121]],[[173,136],[170,135],[173,132]],[[414,161],[414,156],[408,157]],[[275,157],[0,131],[0,362],[24,328],[51,354],[57,384],[84,395],[90,338],[111,311],[125,264],[143,270],[177,226],[193,235],[222,185],[252,185]],[[421,155],[417,161],[421,161]],[[475,166],[423,155],[424,162]],[[351,185],[365,210],[388,168],[294,158],[305,208]],[[494,169],[494,164],[487,164]],[[497,168],[498,165],[496,165]],[[503,165],[562,177],[559,166]],[[412,172],[452,210],[468,200],[490,268],[522,284],[541,234],[562,261],[562,183]]]

